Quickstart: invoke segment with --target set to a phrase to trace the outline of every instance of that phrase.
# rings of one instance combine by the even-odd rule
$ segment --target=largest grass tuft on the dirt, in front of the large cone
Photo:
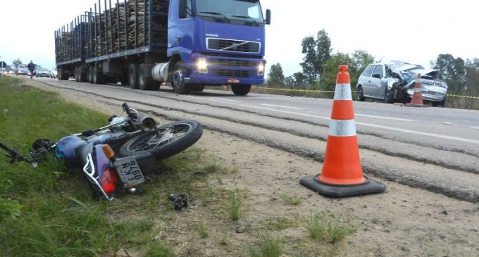
[[[311,215],[304,224],[312,239],[335,244],[356,233],[356,227],[330,213]]]

